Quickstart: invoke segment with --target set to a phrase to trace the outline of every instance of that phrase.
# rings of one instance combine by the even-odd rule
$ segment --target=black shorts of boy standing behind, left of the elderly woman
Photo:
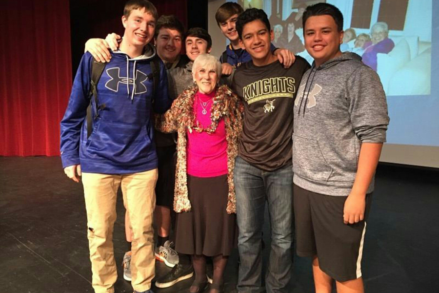
[[[174,206],[175,167],[177,165],[176,146],[157,147],[159,177],[156,185],[156,206]]]

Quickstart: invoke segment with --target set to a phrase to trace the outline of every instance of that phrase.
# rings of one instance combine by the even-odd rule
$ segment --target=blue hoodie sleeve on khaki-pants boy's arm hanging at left
[[[61,161],[62,167],[79,165],[81,127],[87,106],[90,104],[90,68],[93,57],[90,53],[82,56],[70,94],[69,104],[61,120]]]

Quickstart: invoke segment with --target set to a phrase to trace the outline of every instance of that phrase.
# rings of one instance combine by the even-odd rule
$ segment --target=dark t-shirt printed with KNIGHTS
[[[305,59],[285,69],[279,61],[264,66],[242,64],[233,77],[233,90],[244,102],[239,156],[255,167],[273,171],[291,163],[293,105]]]

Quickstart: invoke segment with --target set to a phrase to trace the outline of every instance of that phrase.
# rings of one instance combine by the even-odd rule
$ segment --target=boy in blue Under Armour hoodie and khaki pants
[[[82,175],[96,293],[113,293],[117,279],[112,236],[119,186],[133,230],[132,286],[135,293],[152,292],[157,154],[150,113],[163,113],[171,104],[163,63],[158,63],[156,87],[150,78],[152,59],[157,57],[155,48],[147,44],[154,36],[156,19],[157,10],[147,0],[125,4],[124,37],[100,76],[94,90],[97,97],[89,95],[94,60],[85,53],[61,121],[64,172],[76,182]],[[92,131],[85,123],[90,99]]]

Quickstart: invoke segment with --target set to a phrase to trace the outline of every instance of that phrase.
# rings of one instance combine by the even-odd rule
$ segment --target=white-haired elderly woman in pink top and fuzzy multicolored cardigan
[[[191,293],[207,287],[206,256],[212,256],[210,293],[223,290],[223,272],[236,243],[233,169],[242,128],[242,105],[226,85],[221,64],[201,54],[192,67],[195,85],[184,90],[158,119],[162,132],[178,132],[174,209],[176,250],[191,254]]]

